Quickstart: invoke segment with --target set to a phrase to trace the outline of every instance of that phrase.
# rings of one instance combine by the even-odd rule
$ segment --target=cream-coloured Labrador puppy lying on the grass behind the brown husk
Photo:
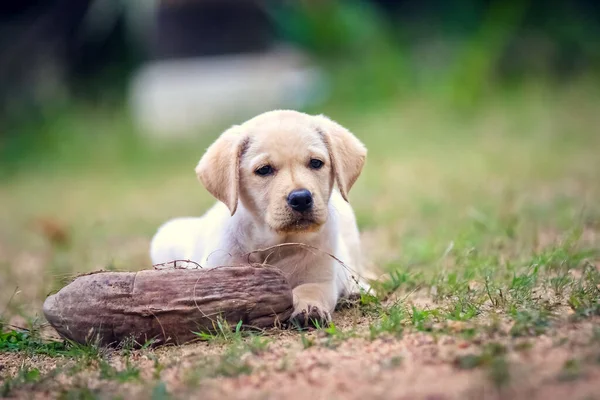
[[[160,227],[152,262],[210,268],[247,263],[251,253],[289,280],[292,318],[327,323],[341,296],[368,288],[348,204],[366,155],[352,133],[325,116],[277,110],[233,126],[196,167],[220,202],[200,218]]]

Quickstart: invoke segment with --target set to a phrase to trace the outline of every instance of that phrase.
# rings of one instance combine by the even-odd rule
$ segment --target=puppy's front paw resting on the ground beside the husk
[[[292,324],[302,327],[328,325],[337,302],[333,282],[305,283],[293,289],[294,312]]]

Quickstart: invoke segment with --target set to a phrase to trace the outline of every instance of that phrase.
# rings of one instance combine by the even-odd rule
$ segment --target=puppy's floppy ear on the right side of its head
[[[329,149],[329,157],[340,193],[344,200],[348,201],[348,192],[365,165],[367,148],[337,122],[324,115],[318,115],[315,119],[317,129]]]

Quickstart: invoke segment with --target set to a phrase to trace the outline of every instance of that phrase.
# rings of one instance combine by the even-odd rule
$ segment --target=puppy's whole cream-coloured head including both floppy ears
[[[271,111],[225,131],[196,174],[232,215],[239,200],[279,233],[314,231],[327,221],[334,182],[347,200],[366,155],[327,117]]]

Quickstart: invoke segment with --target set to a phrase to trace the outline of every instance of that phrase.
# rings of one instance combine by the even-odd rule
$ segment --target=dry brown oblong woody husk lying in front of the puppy
[[[182,344],[230,325],[266,328],[292,313],[292,289],[273,268],[99,272],[76,278],[44,302],[44,315],[65,338],[114,345]]]

